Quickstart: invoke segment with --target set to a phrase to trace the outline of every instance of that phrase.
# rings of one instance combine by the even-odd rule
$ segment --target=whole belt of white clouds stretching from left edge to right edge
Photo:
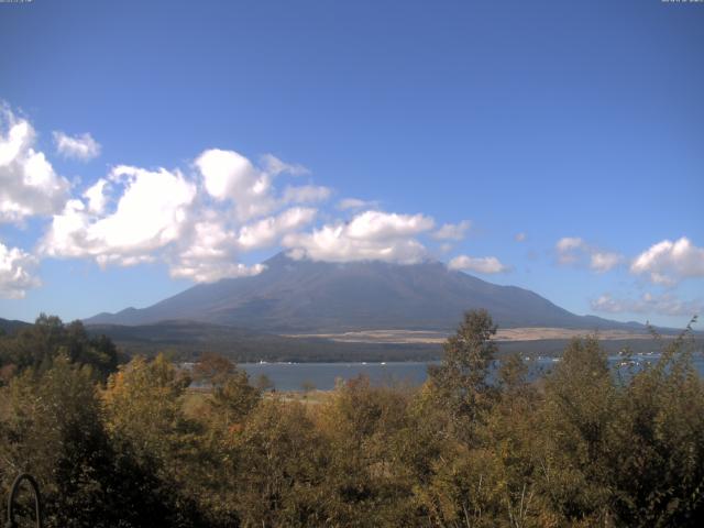
[[[100,153],[89,133],[54,132],[53,139],[64,157],[87,161]],[[69,183],[38,150],[32,124],[0,107],[0,223],[32,233],[21,244],[9,239],[1,245],[0,296],[19,298],[36,287],[36,264],[44,257],[86,258],[102,268],[157,262],[172,277],[195,283],[262,274],[265,265],[257,262],[275,249],[297,262],[413,265],[444,254],[452,270],[513,270],[490,251],[487,256],[451,253],[471,229],[469,220],[440,223],[425,212],[384,210],[378,201],[358,198],[331,202],[336,190],[314,182],[305,166],[273,154],[255,160],[206,148],[180,166],[118,164],[97,178]],[[488,232],[479,229],[477,241],[483,231]],[[514,239],[524,242],[526,234]],[[539,241],[540,233],[531,235],[531,244]],[[562,265],[600,274],[630,272],[634,284],[634,275],[670,288],[704,277],[704,249],[684,237],[653,244],[629,267],[623,266],[627,257],[620,252],[579,237],[560,239],[554,253]],[[695,306],[675,295],[635,300],[606,295],[590,306],[613,312],[692,311]]]

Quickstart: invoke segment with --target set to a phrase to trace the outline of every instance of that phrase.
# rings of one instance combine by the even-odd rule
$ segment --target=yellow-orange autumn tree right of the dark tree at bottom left
[[[163,354],[135,358],[110,376],[102,394],[106,428],[120,464],[150,475],[141,495],[160,504],[144,518],[152,525],[200,526],[195,476],[200,472],[200,426],[186,417],[189,376]],[[160,518],[161,516],[161,518]]]

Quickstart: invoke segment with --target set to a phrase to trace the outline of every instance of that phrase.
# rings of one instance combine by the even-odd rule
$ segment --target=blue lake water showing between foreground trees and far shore
[[[656,362],[659,354],[635,354],[635,367]],[[618,364],[623,358],[612,356],[612,365]],[[704,376],[704,356],[694,356],[694,365]],[[433,362],[431,362],[433,363]],[[363,374],[373,384],[408,383],[420,385],[427,378],[427,362],[388,362],[388,363],[241,363],[250,375],[252,383],[262,374],[266,375],[277,391],[300,391],[304,384],[311,384],[320,391],[334,388],[336,380],[351,380]],[[438,364],[439,362],[435,362]],[[529,362],[534,377],[549,372],[557,364],[552,358],[537,358]],[[624,371],[626,369],[624,367]]]

